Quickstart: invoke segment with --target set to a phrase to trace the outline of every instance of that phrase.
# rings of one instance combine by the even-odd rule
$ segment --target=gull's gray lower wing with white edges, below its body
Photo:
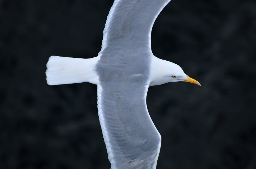
[[[101,82],[97,89],[98,114],[111,169],[154,169],[161,136],[147,111],[148,85],[119,83]]]

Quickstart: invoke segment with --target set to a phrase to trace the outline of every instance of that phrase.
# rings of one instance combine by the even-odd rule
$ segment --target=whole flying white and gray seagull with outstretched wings
[[[97,57],[51,56],[47,84],[97,85],[100,125],[111,169],[155,169],[161,136],[147,110],[149,86],[200,83],[180,66],[155,57],[151,30],[170,0],[115,0]]]

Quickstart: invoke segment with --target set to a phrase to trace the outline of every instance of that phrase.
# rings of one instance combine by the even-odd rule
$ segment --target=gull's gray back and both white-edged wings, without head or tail
[[[146,107],[150,34],[169,0],[116,0],[97,63],[98,111],[111,169],[155,168],[161,136]]]

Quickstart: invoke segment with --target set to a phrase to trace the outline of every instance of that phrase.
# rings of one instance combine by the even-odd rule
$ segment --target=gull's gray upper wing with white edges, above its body
[[[132,50],[151,52],[151,30],[170,0],[115,0],[103,31],[101,52]]]

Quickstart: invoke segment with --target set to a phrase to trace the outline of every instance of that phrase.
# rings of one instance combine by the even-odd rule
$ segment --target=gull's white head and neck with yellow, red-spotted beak
[[[150,86],[179,81],[190,82],[201,86],[198,81],[186,75],[179,65],[157,57],[152,59],[150,67]]]

